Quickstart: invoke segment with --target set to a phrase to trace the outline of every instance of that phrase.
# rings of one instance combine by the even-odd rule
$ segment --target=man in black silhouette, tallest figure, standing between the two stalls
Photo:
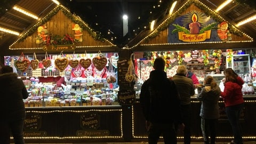
[[[157,144],[163,134],[165,144],[177,143],[174,123],[182,129],[180,98],[174,82],[164,71],[165,61],[156,58],[154,70],[141,86],[140,104],[146,119],[148,143]]]

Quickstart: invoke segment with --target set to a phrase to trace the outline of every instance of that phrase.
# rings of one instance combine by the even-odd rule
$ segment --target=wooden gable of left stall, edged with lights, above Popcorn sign
[[[60,20],[61,19],[61,20]],[[45,43],[36,43],[38,38],[38,27],[44,26],[47,30],[47,36],[49,35],[58,35],[63,37],[68,34],[71,38],[75,36],[75,30],[73,26],[78,24],[82,28],[81,33],[81,42],[75,43],[76,49],[72,50],[76,52],[98,52],[100,51],[115,51],[117,49],[116,45],[112,44],[105,38],[101,38],[97,31],[91,29],[87,24],[79,18],[77,15],[71,14],[66,7],[62,5],[57,5],[51,12],[49,12],[41,20],[37,21],[34,26],[31,26],[24,34],[22,34],[17,41],[10,45],[10,50],[19,50],[19,51],[29,51],[37,53],[44,52],[43,47]],[[39,36],[42,41],[42,37]],[[58,52],[59,51],[52,51]],[[70,52],[70,50],[69,50]]]

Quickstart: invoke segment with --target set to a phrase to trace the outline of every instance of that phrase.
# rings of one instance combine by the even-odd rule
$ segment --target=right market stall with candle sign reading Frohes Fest
[[[137,74],[142,82],[149,77],[150,71],[153,70],[151,63],[159,54],[163,55],[166,62],[170,64],[170,66],[168,65],[169,67],[166,67],[167,76],[173,76],[178,65],[186,65],[198,77],[204,78],[211,71],[213,71],[213,76],[219,76],[220,74],[215,74],[216,69],[223,70],[228,67],[229,52],[238,54],[237,57],[239,57],[239,52],[242,52],[242,54],[247,54],[246,57],[249,57],[245,60],[249,64],[245,66],[247,69],[246,74],[251,75],[250,61],[252,58],[250,55],[255,49],[255,40],[252,37],[243,33],[243,31],[233,26],[232,22],[226,21],[218,13],[215,13],[199,1],[184,1],[179,3],[173,11],[173,14],[166,14],[164,19],[156,19],[154,29],[144,30],[126,47],[126,49],[134,52],[134,63],[135,66],[138,66]],[[228,26],[225,37],[221,35],[221,26],[223,24]],[[193,31],[193,27],[198,31]],[[193,55],[195,51],[199,52],[199,54]],[[220,51],[221,54],[221,65],[216,66],[215,61],[218,57],[213,57],[213,53],[217,51]],[[182,54],[179,55],[179,53]],[[191,54],[191,57],[187,57],[188,53]],[[210,56],[206,57],[206,54]],[[205,68],[206,63],[204,60],[206,58],[212,61],[207,63]],[[136,93],[139,95],[139,91]],[[255,118],[255,114],[250,112],[256,110],[254,108],[255,96],[255,94],[244,95],[245,107],[241,115],[244,139],[256,138],[255,133],[250,128],[256,126],[252,120]],[[202,139],[199,117],[200,106],[201,102],[196,97],[191,97],[191,108],[193,109],[191,122],[193,123],[191,129],[192,139]],[[232,139],[231,127],[221,98],[219,106],[221,118],[219,119],[217,139]],[[142,117],[138,99],[132,110],[133,139],[146,139],[145,119]],[[182,139],[182,137],[179,138]]]

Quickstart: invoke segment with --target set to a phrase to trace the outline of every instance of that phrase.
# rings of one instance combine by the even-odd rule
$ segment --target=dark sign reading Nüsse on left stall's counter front
[[[24,121],[25,131],[29,130],[39,130],[41,128],[42,118],[38,114],[26,114],[26,119]]]

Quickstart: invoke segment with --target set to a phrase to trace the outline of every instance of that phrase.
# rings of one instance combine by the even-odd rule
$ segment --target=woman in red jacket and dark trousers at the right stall
[[[224,82],[225,87],[223,92],[220,93],[220,96],[224,100],[226,114],[234,134],[234,141],[231,141],[231,143],[241,144],[243,143],[243,139],[242,129],[239,125],[239,116],[244,107],[242,92],[244,81],[231,68],[226,68],[224,75],[226,77]]]

